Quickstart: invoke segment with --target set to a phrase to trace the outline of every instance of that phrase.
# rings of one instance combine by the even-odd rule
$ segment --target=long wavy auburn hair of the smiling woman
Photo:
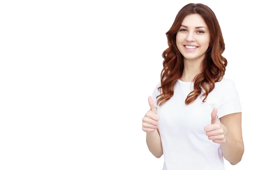
[[[159,95],[157,105],[163,105],[173,96],[174,85],[183,74],[184,57],[177,48],[175,38],[183,19],[189,14],[200,14],[203,17],[209,28],[210,43],[206,56],[201,62],[201,73],[193,79],[194,91],[188,94],[185,104],[189,105],[189,103],[195,101],[203,92],[201,88],[204,89],[202,96],[205,96],[203,100],[205,102],[208,94],[215,88],[215,82],[221,81],[225,74],[227,59],[221,55],[225,50],[225,44],[214,12],[204,4],[189,3],[180,9],[172,27],[166,32],[169,48],[163,51],[162,54],[164,58],[163,70],[161,71],[161,86],[158,87],[158,90],[162,88],[163,93]],[[207,86],[209,89],[207,89]]]

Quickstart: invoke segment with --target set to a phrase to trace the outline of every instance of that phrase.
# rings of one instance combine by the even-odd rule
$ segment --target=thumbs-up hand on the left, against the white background
[[[157,115],[157,109],[154,106],[154,101],[151,96],[148,97],[148,104],[150,110],[142,119],[142,130],[145,132],[154,132],[158,126],[159,116]]]

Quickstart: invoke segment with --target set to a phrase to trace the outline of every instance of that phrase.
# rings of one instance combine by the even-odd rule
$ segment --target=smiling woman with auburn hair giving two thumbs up
[[[233,80],[223,78],[225,44],[214,12],[189,3],[166,33],[160,82],[148,97],[143,130],[163,170],[224,170],[223,157],[241,161],[241,103]]]

